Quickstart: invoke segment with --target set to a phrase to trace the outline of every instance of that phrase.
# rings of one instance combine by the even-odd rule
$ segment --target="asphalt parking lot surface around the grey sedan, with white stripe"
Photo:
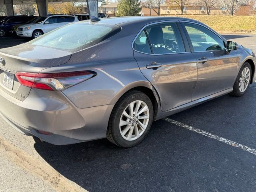
[[[226,34],[256,51],[256,36]],[[0,38],[0,48],[26,40]],[[153,123],[145,140],[54,146],[0,118],[0,191],[256,191],[256,83]]]

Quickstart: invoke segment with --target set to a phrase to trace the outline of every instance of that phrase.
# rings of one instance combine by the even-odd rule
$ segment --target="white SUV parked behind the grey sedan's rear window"
[[[79,20],[77,16],[74,15],[41,16],[32,23],[19,26],[17,35],[21,37],[32,37],[34,39],[58,27],[76,21]]]

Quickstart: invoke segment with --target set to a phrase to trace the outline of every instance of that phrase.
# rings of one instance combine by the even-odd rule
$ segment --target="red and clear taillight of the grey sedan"
[[[26,73],[15,74],[20,84],[44,90],[61,91],[75,84],[88,80],[95,76],[90,71],[64,72],[64,73]]]

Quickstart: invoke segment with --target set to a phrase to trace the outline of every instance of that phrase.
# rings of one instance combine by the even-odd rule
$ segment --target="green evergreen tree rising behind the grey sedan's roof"
[[[138,0],[118,0],[116,16],[139,16],[141,10]]]

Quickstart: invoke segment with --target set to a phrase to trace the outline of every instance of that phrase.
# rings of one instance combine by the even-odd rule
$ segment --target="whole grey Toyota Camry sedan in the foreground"
[[[76,22],[0,50],[0,115],[56,145],[132,147],[154,120],[244,95],[255,63],[252,50],[188,18]]]

